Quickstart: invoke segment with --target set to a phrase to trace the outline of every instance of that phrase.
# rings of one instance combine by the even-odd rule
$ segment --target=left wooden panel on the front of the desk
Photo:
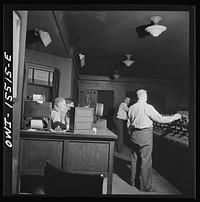
[[[62,168],[63,141],[21,140],[21,170],[43,171],[46,160]]]

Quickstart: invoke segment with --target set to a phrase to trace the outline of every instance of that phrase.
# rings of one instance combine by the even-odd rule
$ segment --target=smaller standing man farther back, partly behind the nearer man
[[[127,119],[128,119],[128,105],[130,103],[130,98],[126,97],[124,101],[119,105],[117,111],[116,120],[116,132],[118,139],[116,141],[116,150],[119,153],[123,153],[123,137],[124,134],[127,135]]]

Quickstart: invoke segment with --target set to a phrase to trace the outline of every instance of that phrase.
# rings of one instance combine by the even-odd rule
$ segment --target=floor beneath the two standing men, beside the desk
[[[113,168],[113,185],[112,195],[126,195],[126,196],[181,196],[182,194],[172,186],[166,179],[164,179],[156,170],[153,169],[152,187],[156,192],[141,192],[136,187],[129,185],[130,176],[130,155],[131,150],[124,145],[123,154],[114,153],[114,168]],[[106,193],[106,179],[103,184],[103,194]]]

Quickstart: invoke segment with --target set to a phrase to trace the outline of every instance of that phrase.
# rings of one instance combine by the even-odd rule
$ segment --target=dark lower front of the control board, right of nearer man
[[[185,196],[194,190],[194,171],[189,148],[154,134],[153,168]]]

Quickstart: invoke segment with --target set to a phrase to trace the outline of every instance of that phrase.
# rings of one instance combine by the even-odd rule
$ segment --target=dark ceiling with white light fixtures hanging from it
[[[159,24],[167,30],[158,37],[140,36],[154,15],[162,17]],[[27,30],[36,27],[47,31],[52,43],[27,44],[27,48],[60,57],[67,57],[66,49],[72,55],[81,53],[85,66],[80,74],[111,76],[118,70],[121,77],[188,79],[188,11],[29,11]],[[126,54],[134,60],[130,67],[122,62]]]

